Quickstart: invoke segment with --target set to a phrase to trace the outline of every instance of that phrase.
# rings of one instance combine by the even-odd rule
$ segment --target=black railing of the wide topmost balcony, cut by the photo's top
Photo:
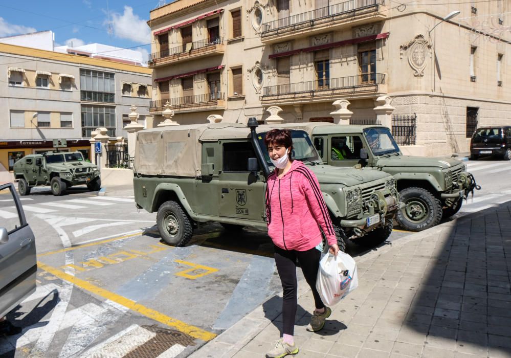
[[[350,17],[365,9],[377,9],[380,5],[383,5],[383,0],[349,0],[265,23],[262,25],[262,35],[302,24],[313,26],[314,21],[321,19]]]

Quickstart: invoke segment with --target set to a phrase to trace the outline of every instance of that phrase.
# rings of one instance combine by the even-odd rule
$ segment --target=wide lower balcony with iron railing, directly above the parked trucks
[[[373,97],[386,93],[385,74],[368,73],[357,76],[326,78],[315,81],[278,84],[263,87],[262,104],[293,104],[331,100],[342,94],[350,97]]]

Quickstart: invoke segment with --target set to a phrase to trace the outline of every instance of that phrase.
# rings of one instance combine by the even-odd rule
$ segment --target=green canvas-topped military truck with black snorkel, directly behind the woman
[[[219,222],[228,230],[266,230],[264,193],[273,169],[263,144],[269,127],[239,123],[169,126],[137,133],[135,203],[152,213],[162,239],[183,246],[194,228]],[[323,165],[312,140],[292,130],[294,158],[317,175],[339,247],[353,239],[376,245],[392,232],[398,210],[394,178],[367,169]]]

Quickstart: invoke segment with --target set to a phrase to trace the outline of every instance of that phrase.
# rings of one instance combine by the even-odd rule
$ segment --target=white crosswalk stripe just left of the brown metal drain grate
[[[135,329],[131,329],[129,332],[125,333],[117,340],[110,342],[109,344],[101,347],[100,349],[95,349],[89,351],[87,355],[83,356],[83,358],[89,357],[101,357],[101,358],[118,358],[126,355],[130,351],[134,350],[138,346],[146,343],[150,339],[156,337],[156,333],[151,332],[145,328],[137,327]]]

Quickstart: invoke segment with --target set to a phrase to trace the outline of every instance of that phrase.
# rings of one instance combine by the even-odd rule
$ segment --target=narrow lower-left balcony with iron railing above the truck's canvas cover
[[[165,109],[165,104],[169,103],[171,109],[176,113],[193,112],[211,109],[225,108],[225,93],[215,92],[202,95],[184,96],[175,98],[163,98],[149,103],[149,112],[158,114]]]

